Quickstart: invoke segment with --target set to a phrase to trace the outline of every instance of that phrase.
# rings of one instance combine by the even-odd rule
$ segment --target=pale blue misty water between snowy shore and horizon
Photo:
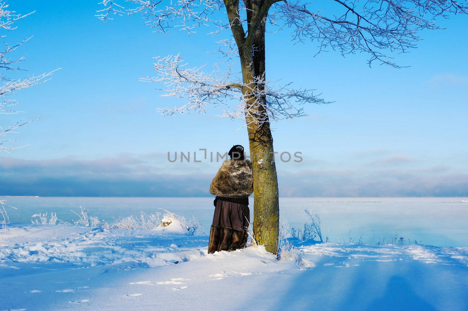
[[[165,209],[181,216],[195,217],[209,231],[213,198],[138,197],[0,197],[17,210],[6,208],[10,223],[28,224],[39,212],[56,212],[71,221],[71,210],[86,207],[90,216],[111,222],[112,218],[139,216]],[[251,219],[253,220],[253,199]],[[280,198],[280,216],[291,227],[307,221],[304,209],[318,213],[322,235],[331,242],[376,243],[379,239],[403,237],[425,245],[468,246],[468,198]]]

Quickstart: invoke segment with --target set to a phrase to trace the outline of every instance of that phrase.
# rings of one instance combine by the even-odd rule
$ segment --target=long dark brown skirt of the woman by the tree
[[[217,200],[210,230],[208,253],[234,251],[247,243],[250,223],[248,205]]]

